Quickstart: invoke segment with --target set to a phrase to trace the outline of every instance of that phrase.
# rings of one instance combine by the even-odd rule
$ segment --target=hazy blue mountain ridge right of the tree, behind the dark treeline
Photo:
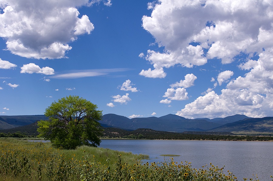
[[[216,123],[215,123],[216,122]],[[110,127],[125,130],[139,128],[158,131],[179,132],[184,131],[213,131],[213,132],[267,132],[273,133],[273,120],[270,117],[250,118],[242,114],[236,114],[225,118],[196,118],[187,119],[174,114],[162,117],[137,117],[129,119],[116,114],[103,115],[100,123]],[[271,129],[272,127],[272,129]]]

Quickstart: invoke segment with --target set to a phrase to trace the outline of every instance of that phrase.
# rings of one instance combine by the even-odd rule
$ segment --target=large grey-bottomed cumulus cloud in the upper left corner
[[[110,1],[106,3],[110,4]],[[88,16],[79,16],[77,8],[84,5],[91,2],[1,1],[0,36],[5,38],[7,50],[13,54],[37,59],[64,58],[72,48],[68,43],[94,29]]]

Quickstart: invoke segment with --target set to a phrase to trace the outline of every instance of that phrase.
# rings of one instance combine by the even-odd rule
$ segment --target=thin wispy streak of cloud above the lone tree
[[[106,76],[110,73],[129,71],[129,68],[110,68],[110,69],[90,69],[90,70],[70,70],[72,73],[56,74],[50,78],[55,79],[75,79],[82,77]]]

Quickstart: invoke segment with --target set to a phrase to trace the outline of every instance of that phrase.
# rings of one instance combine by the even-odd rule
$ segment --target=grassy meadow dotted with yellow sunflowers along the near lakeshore
[[[0,139],[0,181],[235,181],[237,177],[212,163],[200,169],[190,162],[146,162],[147,155],[80,146],[76,150],[52,147],[51,143]],[[271,178],[272,179],[272,178]],[[247,179],[244,179],[247,180]],[[248,180],[258,180],[256,176]]]

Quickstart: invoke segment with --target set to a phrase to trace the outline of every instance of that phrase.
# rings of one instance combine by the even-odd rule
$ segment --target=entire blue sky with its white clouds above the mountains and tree
[[[272,116],[272,3],[0,0],[0,115]]]

